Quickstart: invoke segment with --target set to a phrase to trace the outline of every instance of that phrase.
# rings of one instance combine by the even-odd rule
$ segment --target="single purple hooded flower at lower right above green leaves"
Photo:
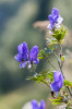
[[[53,83],[50,84],[51,90],[52,92],[59,92],[60,88],[63,86],[63,75],[61,72],[56,71],[53,73]]]

